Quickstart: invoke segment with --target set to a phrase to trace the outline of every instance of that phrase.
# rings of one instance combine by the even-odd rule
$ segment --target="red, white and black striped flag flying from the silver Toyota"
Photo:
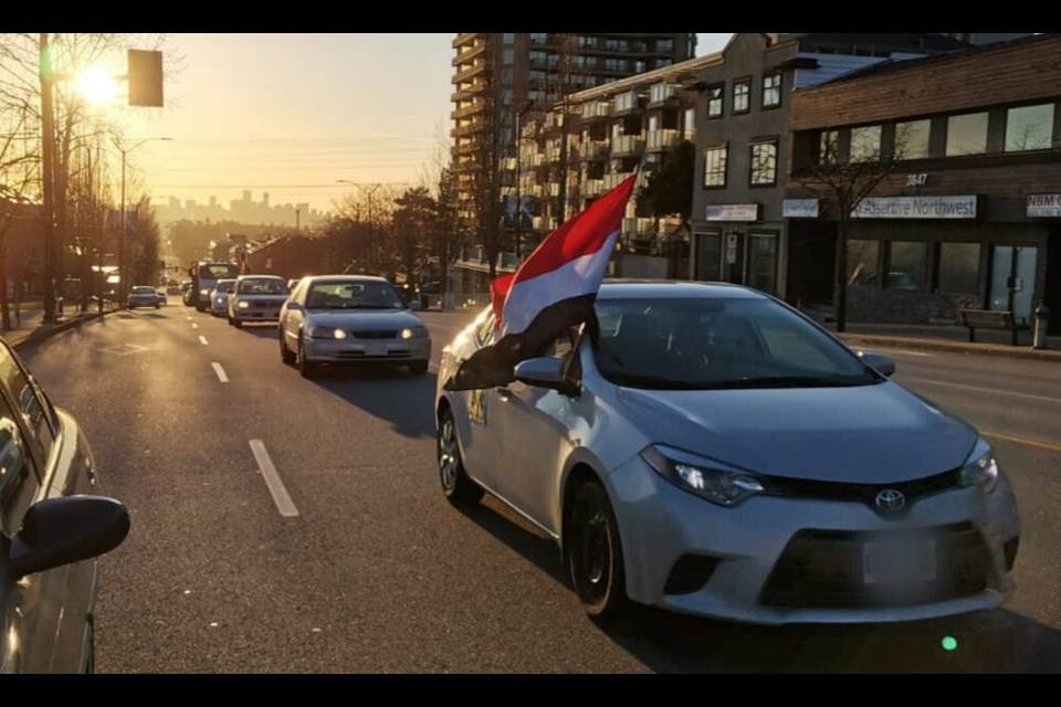
[[[638,171],[545,238],[514,275],[491,283],[495,342],[468,358],[447,390],[505,386],[519,361],[545,355],[556,338],[592,318]]]

